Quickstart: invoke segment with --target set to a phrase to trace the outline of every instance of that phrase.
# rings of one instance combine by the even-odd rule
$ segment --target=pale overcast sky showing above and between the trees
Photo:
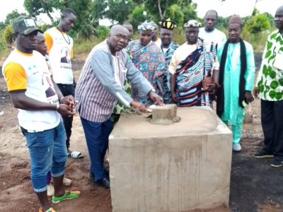
[[[13,10],[18,10],[19,13],[25,12],[23,8],[24,0],[8,0],[0,7],[0,21],[4,21],[8,13]],[[220,0],[192,0],[197,3],[197,15],[200,18],[204,17],[204,14],[209,9],[215,9],[219,16],[232,16],[234,14],[239,16],[250,16],[255,6],[255,0],[226,0],[221,3]],[[282,0],[260,0],[257,4],[257,8],[260,12],[271,13],[275,15],[275,11],[279,6],[283,5]],[[40,16],[42,21],[49,21],[47,16]]]

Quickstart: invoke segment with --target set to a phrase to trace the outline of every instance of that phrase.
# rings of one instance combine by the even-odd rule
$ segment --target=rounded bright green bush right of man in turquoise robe
[[[270,20],[265,14],[258,14],[248,19],[244,28],[249,30],[250,33],[260,33],[270,28]]]

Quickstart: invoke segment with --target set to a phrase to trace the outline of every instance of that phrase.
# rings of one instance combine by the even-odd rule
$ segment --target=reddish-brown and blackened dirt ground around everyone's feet
[[[81,55],[74,59],[76,79],[85,58],[86,55]],[[261,54],[255,53],[257,67],[260,60]],[[30,183],[28,149],[18,128],[18,111],[11,105],[6,83],[0,74],[0,114],[1,111],[4,115],[0,115],[0,211],[38,211],[39,205]],[[61,212],[112,211],[110,190],[97,187],[88,178],[88,152],[78,116],[74,117],[73,132],[71,148],[81,151],[85,157],[68,159],[66,177],[73,181],[71,189],[79,189],[81,196],[53,206]],[[283,211],[283,169],[270,167],[270,159],[252,157],[262,146],[259,100],[253,102],[253,123],[243,126],[241,145],[241,153],[233,153],[232,158],[229,208],[207,211]]]

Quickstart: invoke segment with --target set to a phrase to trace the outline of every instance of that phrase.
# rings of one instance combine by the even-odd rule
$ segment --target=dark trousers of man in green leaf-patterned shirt
[[[265,136],[263,149],[283,160],[283,100],[261,100],[261,124]]]

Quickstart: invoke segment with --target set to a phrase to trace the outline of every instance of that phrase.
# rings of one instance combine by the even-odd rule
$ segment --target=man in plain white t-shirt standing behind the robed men
[[[218,47],[226,42],[225,33],[217,30],[214,25],[217,21],[218,14],[214,10],[209,10],[204,16],[204,27],[200,28],[199,37],[204,39],[204,42],[214,42]]]

